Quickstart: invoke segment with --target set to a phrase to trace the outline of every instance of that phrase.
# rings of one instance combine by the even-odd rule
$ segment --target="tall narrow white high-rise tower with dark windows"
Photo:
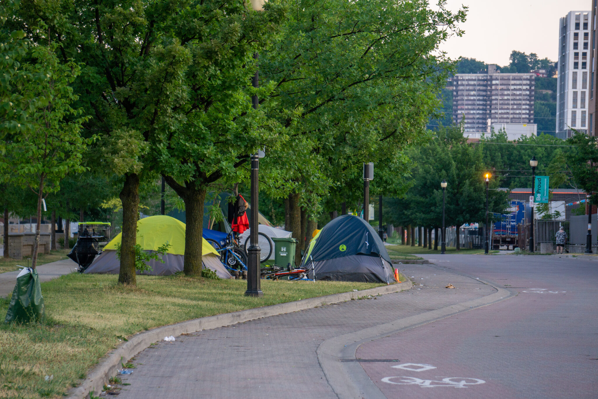
[[[590,11],[570,11],[560,19],[556,136],[587,132],[590,100]]]

